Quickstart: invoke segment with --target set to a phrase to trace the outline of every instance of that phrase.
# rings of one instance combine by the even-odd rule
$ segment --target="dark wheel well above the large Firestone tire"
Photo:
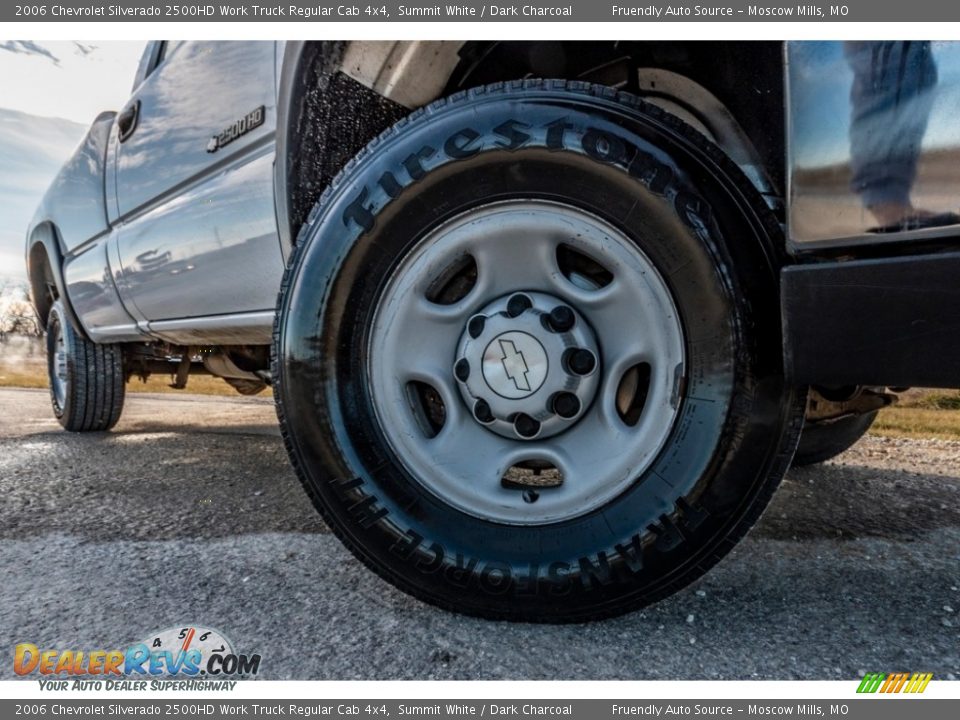
[[[278,144],[283,160],[278,163],[283,172],[278,191],[283,196],[277,198],[290,244],[350,158],[411,110],[344,72],[347,53],[346,43],[306,43],[291,73]],[[467,42],[452,63],[414,63],[405,72],[430,73],[432,80],[438,73],[445,75],[446,85],[437,97],[527,77],[585,80],[643,96],[699,129],[716,130],[708,134],[747,172],[769,204],[782,206],[780,42]]]

